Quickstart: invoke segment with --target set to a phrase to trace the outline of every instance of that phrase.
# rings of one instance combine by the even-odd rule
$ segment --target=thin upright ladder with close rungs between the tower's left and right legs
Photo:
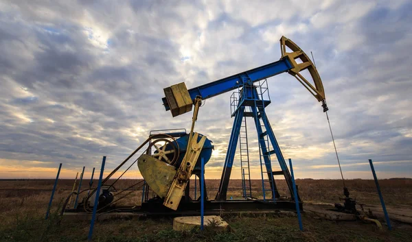
[[[239,132],[240,171],[242,173],[242,195],[252,197],[251,169],[249,166],[249,144],[247,141],[246,117],[243,117]]]

